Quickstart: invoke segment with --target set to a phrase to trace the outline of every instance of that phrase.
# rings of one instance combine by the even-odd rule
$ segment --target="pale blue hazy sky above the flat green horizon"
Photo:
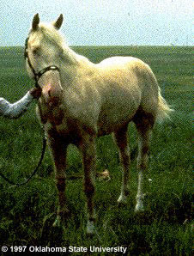
[[[192,0],[1,0],[0,46],[23,46],[33,15],[70,46],[192,46]]]

